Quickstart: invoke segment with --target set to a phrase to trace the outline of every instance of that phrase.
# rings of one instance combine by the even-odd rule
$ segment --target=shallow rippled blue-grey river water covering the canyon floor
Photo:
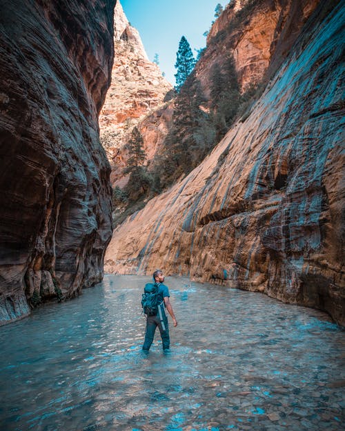
[[[0,430],[343,430],[344,332],[262,294],[168,277],[179,325],[141,352],[148,277],[106,276],[0,328]]]

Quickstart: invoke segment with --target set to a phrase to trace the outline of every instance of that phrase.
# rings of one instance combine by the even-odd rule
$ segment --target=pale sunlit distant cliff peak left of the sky
[[[112,168],[112,184],[123,185],[123,175],[119,168],[126,166],[124,146],[132,129],[145,116],[150,115],[164,103],[164,97],[172,89],[172,85],[161,75],[157,64],[148,60],[139,33],[130,26],[120,2],[115,7],[115,58],[112,67],[112,85],[99,117],[101,134],[112,132],[110,143],[105,147]],[[157,117],[158,115],[158,117]],[[161,116],[160,116],[161,117]],[[138,126],[143,134],[144,147],[148,154],[153,154],[157,141],[156,132],[159,114],[154,113],[148,121],[151,126]],[[163,117],[164,119],[164,117]],[[153,122],[153,125],[152,125]],[[161,128],[165,128],[164,124]],[[150,130],[149,133],[148,130]],[[159,136],[160,132],[158,132]],[[118,182],[120,180],[120,182]]]

